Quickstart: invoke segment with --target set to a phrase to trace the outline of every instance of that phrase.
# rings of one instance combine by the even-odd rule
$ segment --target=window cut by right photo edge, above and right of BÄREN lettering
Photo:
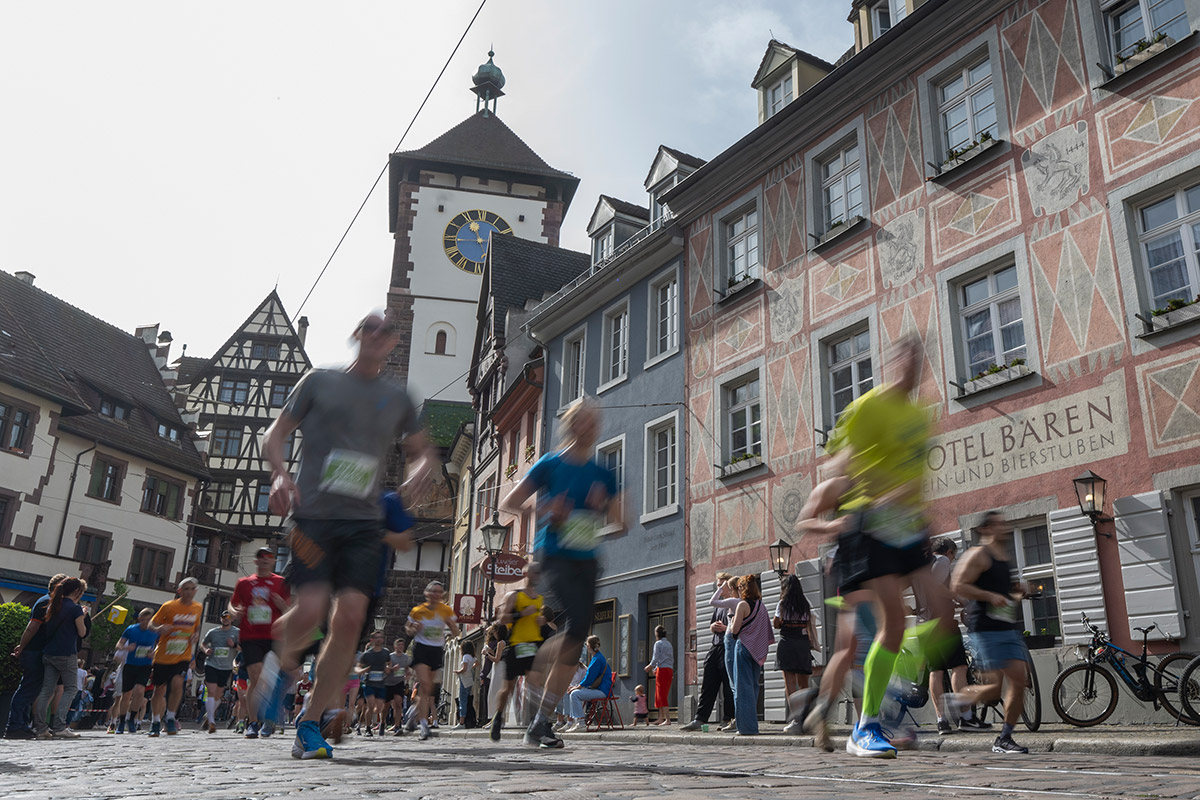
[[[1151,308],[1200,293],[1200,184],[1138,210]]]

